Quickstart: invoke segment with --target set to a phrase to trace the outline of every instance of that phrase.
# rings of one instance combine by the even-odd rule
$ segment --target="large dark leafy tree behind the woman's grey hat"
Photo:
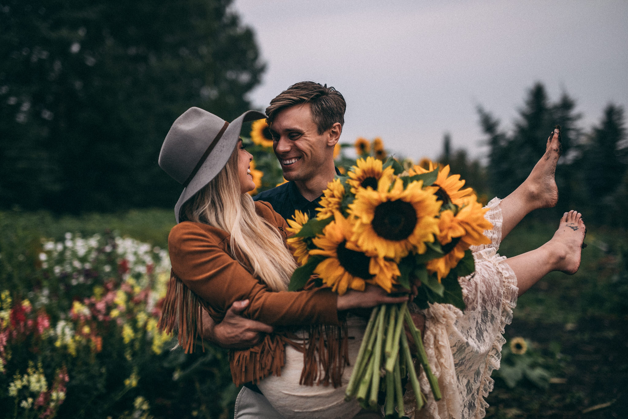
[[[0,208],[171,207],[157,165],[190,106],[231,120],[264,65],[230,0],[4,0]]]

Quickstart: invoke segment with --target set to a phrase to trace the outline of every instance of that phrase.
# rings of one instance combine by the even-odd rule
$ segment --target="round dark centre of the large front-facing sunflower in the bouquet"
[[[407,239],[416,226],[416,210],[402,200],[382,202],[377,205],[371,223],[377,236],[387,240]]]

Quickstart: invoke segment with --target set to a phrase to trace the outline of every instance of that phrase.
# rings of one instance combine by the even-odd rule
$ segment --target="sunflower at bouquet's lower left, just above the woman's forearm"
[[[310,254],[327,256],[314,273],[339,295],[349,289],[364,291],[367,282],[392,290],[396,283],[393,278],[399,276],[397,265],[383,258],[367,256],[350,240],[351,236],[350,220],[336,212],[334,220],[323,229],[322,236],[313,239],[318,249],[310,250]]]

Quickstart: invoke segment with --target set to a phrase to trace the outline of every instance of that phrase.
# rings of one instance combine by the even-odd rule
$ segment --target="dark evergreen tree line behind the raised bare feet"
[[[628,205],[628,140],[624,108],[609,103],[599,122],[585,129],[579,121],[576,101],[564,92],[551,101],[543,84],[526,93],[524,104],[512,124],[502,127],[490,111],[477,108],[483,142],[489,146],[487,165],[471,160],[465,150],[451,150],[445,134],[438,161],[452,166],[480,195],[506,197],[528,177],[543,155],[549,134],[561,126],[563,155],[556,168],[558,205],[532,215],[553,219],[576,209],[593,224],[628,227],[623,216]]]

